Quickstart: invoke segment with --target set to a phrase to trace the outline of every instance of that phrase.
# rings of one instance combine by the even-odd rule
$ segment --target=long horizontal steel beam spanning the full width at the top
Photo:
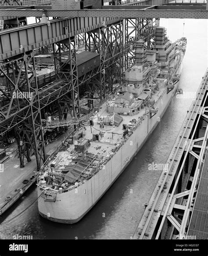
[[[136,7],[136,6],[135,6]],[[47,17],[108,17],[108,18],[164,18],[164,19],[208,19],[207,10],[184,10],[181,6],[180,10],[175,10],[175,6],[167,6],[168,9],[142,9],[142,10],[102,10],[102,9],[86,9],[86,10],[44,10]],[[193,7],[194,8],[194,7]],[[43,10],[0,10],[0,19],[4,16],[15,17],[41,17]]]

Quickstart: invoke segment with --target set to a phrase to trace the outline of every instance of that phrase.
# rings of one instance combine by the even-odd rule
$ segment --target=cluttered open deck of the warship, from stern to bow
[[[176,49],[176,55],[177,52],[179,52],[178,49]],[[169,72],[171,72],[170,68],[173,68],[174,70],[176,61],[177,60],[174,58],[171,59],[169,68],[160,70],[160,73],[163,73],[164,76],[161,74],[156,76],[159,83],[164,82],[165,79],[169,77]],[[172,75],[174,75],[173,73]],[[154,90],[156,84],[152,84],[151,86],[152,87],[149,87],[150,89],[153,89],[151,100],[154,100],[154,105],[151,106],[151,108],[154,108],[155,103],[161,95],[166,93],[167,86],[162,86],[159,90]],[[143,89],[145,89],[144,86]],[[143,95],[145,96],[146,94],[143,93]],[[114,104],[115,98],[116,95],[114,95],[114,98],[111,98],[108,103],[111,102],[111,104]],[[145,115],[149,114],[150,109],[147,106],[144,106],[144,108],[137,107],[140,105],[139,101],[141,103],[143,102],[141,99],[143,99],[143,96],[140,94],[137,99],[128,101],[129,103],[131,102],[131,104],[127,104],[127,107],[125,105],[124,109],[127,111],[125,110],[125,115],[124,113],[123,115],[120,115],[120,117],[122,117],[122,122],[117,122],[117,124],[119,123],[118,126],[106,125],[108,122],[101,122],[102,125],[100,125],[99,116],[107,118],[109,115],[114,114],[107,111],[106,102],[102,104],[99,108],[100,111],[92,117],[93,126],[90,126],[90,120],[85,122],[82,128],[77,128],[78,130],[76,133],[82,133],[82,136],[78,141],[75,141],[75,137],[71,136],[71,142],[66,140],[65,145],[58,148],[56,153],[51,155],[50,159],[45,164],[44,169],[40,172],[39,185],[42,185],[43,187],[51,187],[53,189],[60,189],[60,184],[64,184],[63,188],[68,189],[68,187],[73,186],[75,182],[80,182],[89,177],[93,172],[99,170],[113,152],[115,152],[117,145],[121,144],[125,140],[123,125],[126,125],[128,127],[127,129],[131,130],[131,127],[136,127],[139,122],[142,122]],[[136,114],[128,115],[127,112],[133,105],[136,110]],[[119,108],[118,105],[115,107]],[[112,110],[114,110],[114,108],[111,108],[111,111]],[[139,112],[137,113],[138,110]],[[131,111],[129,112],[131,113]],[[77,146],[74,144],[77,142],[77,145],[80,146],[81,140],[83,142],[84,139],[88,141],[88,145],[86,142],[87,146],[85,145],[85,150],[81,150],[82,153],[80,153]],[[53,186],[51,184],[53,184]]]

